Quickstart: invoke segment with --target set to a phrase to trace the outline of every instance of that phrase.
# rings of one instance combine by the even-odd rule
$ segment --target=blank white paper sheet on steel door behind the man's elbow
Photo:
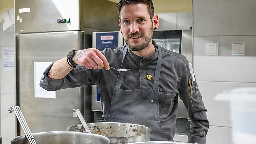
[[[53,62],[34,62],[34,86],[36,98],[56,98],[55,91],[47,91],[39,86],[45,69]]]

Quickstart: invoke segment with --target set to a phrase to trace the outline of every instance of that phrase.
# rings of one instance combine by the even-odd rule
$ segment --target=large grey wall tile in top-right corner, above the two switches
[[[256,35],[255,0],[193,0],[194,36]]]

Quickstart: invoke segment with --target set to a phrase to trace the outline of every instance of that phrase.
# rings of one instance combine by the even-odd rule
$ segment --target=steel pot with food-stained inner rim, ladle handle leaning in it
[[[88,123],[87,125],[92,133],[108,137],[111,144],[150,141],[151,129],[144,125],[116,122]],[[71,126],[67,130],[85,132],[82,124]]]

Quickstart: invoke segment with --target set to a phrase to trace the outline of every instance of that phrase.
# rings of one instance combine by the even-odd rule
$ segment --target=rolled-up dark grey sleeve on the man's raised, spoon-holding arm
[[[53,63],[43,73],[40,86],[48,91],[56,91],[65,88],[97,85],[100,81],[101,71],[99,69],[89,70],[84,66],[77,66],[62,79],[50,79],[48,73]]]

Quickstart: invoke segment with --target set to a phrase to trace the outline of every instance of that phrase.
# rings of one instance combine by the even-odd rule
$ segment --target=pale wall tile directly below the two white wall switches
[[[256,82],[256,57],[194,56],[198,81]]]

